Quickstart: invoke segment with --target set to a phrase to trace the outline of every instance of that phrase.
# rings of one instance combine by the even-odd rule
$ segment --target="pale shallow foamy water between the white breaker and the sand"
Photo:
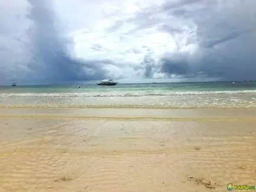
[[[99,95],[104,94],[99,92]],[[134,109],[202,109],[256,108],[255,94],[152,95],[143,97],[1,97],[0,108],[134,108]]]

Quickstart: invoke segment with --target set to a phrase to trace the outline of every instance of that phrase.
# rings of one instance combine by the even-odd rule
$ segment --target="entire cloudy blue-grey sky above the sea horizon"
[[[256,80],[255,0],[0,0],[0,84]]]

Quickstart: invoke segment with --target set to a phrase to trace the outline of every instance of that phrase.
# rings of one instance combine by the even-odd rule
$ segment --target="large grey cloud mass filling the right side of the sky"
[[[188,6],[192,5],[195,8],[188,10]],[[182,22],[191,28],[190,39],[187,38],[183,45],[193,44],[198,45],[198,48],[186,56],[186,53],[179,54],[178,46],[176,53],[162,55],[155,70],[146,65],[145,75],[153,77],[152,71],[160,71],[167,75],[183,75],[185,78],[204,74],[222,80],[255,79],[256,9],[252,8],[253,5],[256,5],[254,1],[242,1],[240,5],[232,6],[228,2],[216,4],[216,1],[166,2],[162,12],[166,12],[173,21],[174,18],[182,18]],[[182,32],[189,34],[188,29],[175,22],[162,22],[165,24],[159,29],[172,37]]]

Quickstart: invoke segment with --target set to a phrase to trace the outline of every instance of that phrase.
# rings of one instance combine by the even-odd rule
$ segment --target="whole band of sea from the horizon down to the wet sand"
[[[0,107],[254,108],[256,82],[3,86]]]

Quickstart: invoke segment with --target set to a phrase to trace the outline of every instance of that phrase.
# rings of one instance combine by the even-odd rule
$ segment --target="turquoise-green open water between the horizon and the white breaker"
[[[80,86],[81,88],[78,88]],[[117,84],[115,86],[99,86],[99,85],[29,85],[29,86],[5,86],[0,87],[0,94],[27,94],[27,93],[99,93],[104,92],[134,92],[134,94],[142,94],[143,92],[158,92],[165,95],[175,94],[175,92],[190,92],[191,94],[214,94],[219,91],[241,91],[254,92],[256,90],[256,82],[187,82],[187,83],[160,83],[160,84]],[[203,93],[200,93],[204,91]],[[231,92],[230,92],[231,91]],[[256,92],[256,91],[255,91]],[[223,92],[225,94],[225,92]],[[111,95],[110,95],[111,96]],[[122,95],[120,95],[122,96]]]

